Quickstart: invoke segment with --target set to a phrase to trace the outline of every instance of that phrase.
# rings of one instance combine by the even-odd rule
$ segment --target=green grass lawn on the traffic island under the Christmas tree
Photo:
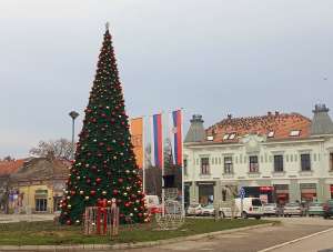
[[[0,224],[0,245],[99,244],[143,242],[236,229],[270,223],[264,220],[186,219],[183,226],[173,231],[158,231],[153,224],[122,226],[115,238],[83,235],[81,226],[54,224],[52,221]]]

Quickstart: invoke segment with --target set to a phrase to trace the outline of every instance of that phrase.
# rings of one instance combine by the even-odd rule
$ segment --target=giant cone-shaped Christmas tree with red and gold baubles
[[[85,109],[75,160],[61,202],[60,222],[80,223],[85,206],[117,199],[120,221],[145,220],[142,181],[135,164],[122,88],[107,24]]]

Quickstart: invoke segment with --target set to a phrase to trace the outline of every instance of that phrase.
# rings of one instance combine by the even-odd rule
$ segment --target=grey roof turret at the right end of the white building
[[[325,104],[315,104],[311,122],[311,135],[333,134],[333,122]]]

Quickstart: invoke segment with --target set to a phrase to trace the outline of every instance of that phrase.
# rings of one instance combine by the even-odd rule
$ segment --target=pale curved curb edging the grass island
[[[265,224],[259,224],[259,225],[251,225],[251,226],[244,226],[239,229],[231,229],[231,230],[222,230],[216,232],[210,232],[210,233],[201,233],[201,234],[194,234],[190,236],[180,236],[180,238],[172,238],[168,240],[158,240],[158,241],[151,241],[151,242],[138,242],[138,243],[119,243],[119,244],[81,244],[81,245],[2,245],[0,246],[0,252],[9,252],[9,251],[89,251],[89,250],[99,250],[99,251],[109,251],[109,250],[124,250],[124,249],[140,249],[140,248],[149,248],[149,246],[157,246],[157,245],[164,245],[170,243],[176,243],[182,241],[196,241],[203,238],[214,238],[220,234],[226,234],[226,233],[235,233],[241,231],[248,231],[253,229],[261,229],[261,228],[268,228],[272,226],[275,223],[265,223]]]

